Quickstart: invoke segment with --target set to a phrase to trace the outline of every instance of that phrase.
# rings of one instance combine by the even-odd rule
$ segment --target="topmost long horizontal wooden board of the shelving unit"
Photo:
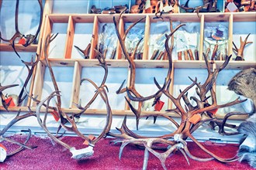
[[[140,14],[123,14],[123,19],[126,22],[134,22],[144,16],[150,17],[150,22],[163,21],[168,22],[169,19],[176,22],[200,22],[200,18],[204,15],[206,22],[228,22],[230,15],[234,16],[234,22],[254,22],[255,12],[216,12],[216,13],[163,13],[162,19],[155,19],[154,14],[140,13]],[[98,17],[99,22],[113,22],[112,17],[118,18],[119,14],[48,14],[52,22],[68,22],[68,16],[75,19],[76,22],[88,22],[88,19]],[[92,20],[91,20],[92,22]]]

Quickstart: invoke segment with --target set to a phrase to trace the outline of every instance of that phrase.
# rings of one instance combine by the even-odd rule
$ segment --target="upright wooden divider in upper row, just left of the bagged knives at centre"
[[[146,22],[145,22],[144,51],[143,51],[142,59],[148,59],[149,37],[150,37],[150,17],[147,15]]]

